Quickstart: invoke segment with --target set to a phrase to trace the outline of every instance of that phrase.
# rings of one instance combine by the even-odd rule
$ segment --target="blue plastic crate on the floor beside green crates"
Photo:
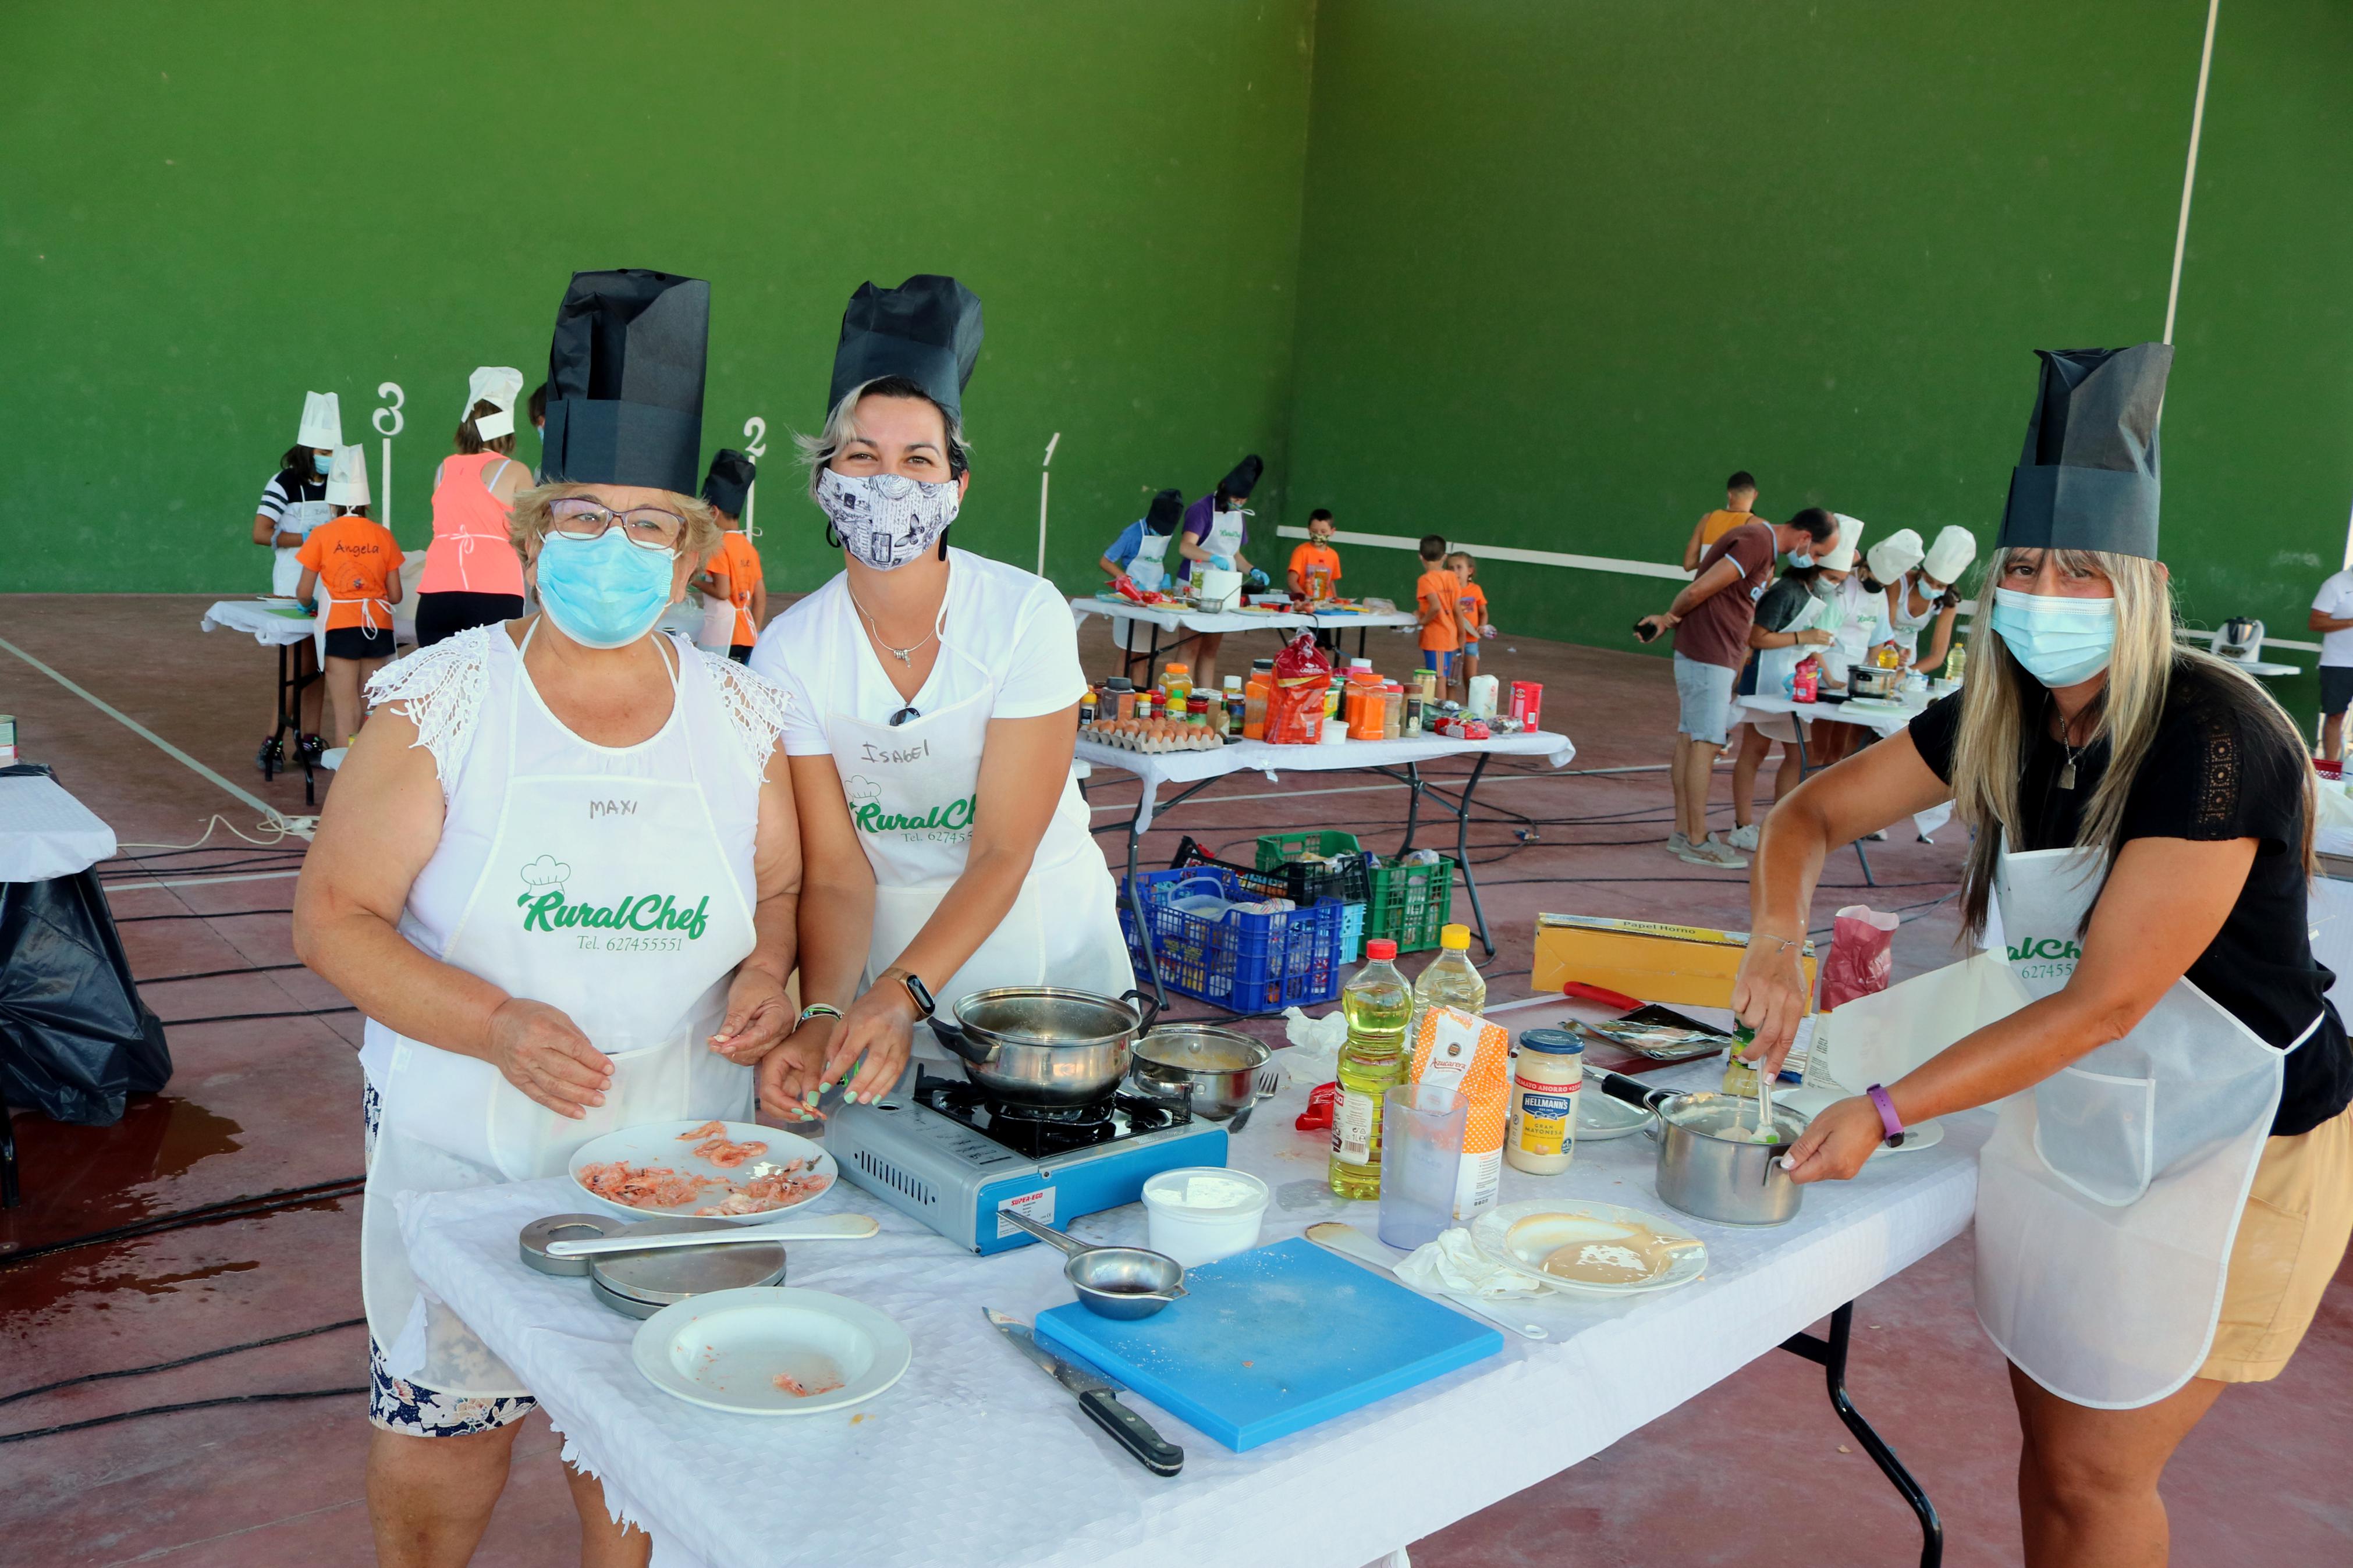
[[[1266,886],[1252,886],[1259,882],[1252,872],[1221,865],[1141,872],[1134,882],[1144,917],[1151,922],[1160,983],[1172,992],[1235,1013],[1275,1013],[1339,997],[1346,910],[1337,898],[1280,914],[1228,912],[1207,919],[1174,907],[1176,900],[1214,893],[1242,903],[1266,898]],[[1127,936],[1136,976],[1144,978],[1144,943],[1136,938],[1136,914],[1125,889],[1120,931]]]

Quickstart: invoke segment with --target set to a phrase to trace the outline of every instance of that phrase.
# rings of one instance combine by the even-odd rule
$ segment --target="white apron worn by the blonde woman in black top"
[[[2099,851],[2002,853],[1995,900],[2028,997],[2075,973],[2104,877]],[[2198,1373],[2285,1063],[2177,980],[2129,1034],[2002,1100],[1979,1152],[1977,1316],[2028,1378],[2134,1410]]]

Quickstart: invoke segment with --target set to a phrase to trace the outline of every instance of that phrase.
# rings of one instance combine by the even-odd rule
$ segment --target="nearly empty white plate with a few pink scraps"
[[[915,1347],[873,1307],[791,1286],[711,1291],[638,1326],[631,1359],[673,1399],[736,1415],[816,1415],[873,1399]]]

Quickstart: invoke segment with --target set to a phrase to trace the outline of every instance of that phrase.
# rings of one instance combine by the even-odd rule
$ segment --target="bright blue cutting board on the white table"
[[[1078,1302],[1040,1312],[1038,1338],[1235,1453],[1504,1349],[1494,1328],[1306,1237],[1188,1269],[1184,1288],[1127,1324]]]

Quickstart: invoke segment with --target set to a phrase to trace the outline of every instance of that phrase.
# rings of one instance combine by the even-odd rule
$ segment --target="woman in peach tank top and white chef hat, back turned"
[[[522,557],[506,512],[529,489],[513,458],[522,371],[485,364],[473,374],[456,456],[433,473],[433,543],[416,578],[416,646],[522,616]]]

